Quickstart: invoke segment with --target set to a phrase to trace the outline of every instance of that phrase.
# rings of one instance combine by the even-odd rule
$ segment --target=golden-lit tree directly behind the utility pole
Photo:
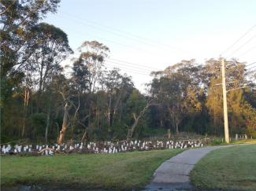
[[[242,128],[246,127],[245,116],[243,113],[244,105],[247,105],[244,92],[249,93],[250,88],[244,90],[239,89],[244,84],[253,84],[247,76],[245,64],[233,60],[236,66],[229,66],[226,69],[226,86],[227,86],[227,102],[228,102],[228,125],[231,129],[231,134],[241,132]],[[206,71],[211,74],[210,86],[207,88],[206,108],[209,112],[210,119],[213,120],[215,134],[223,132],[223,95],[221,83],[221,71],[217,68],[221,66],[221,61],[212,60],[206,61]],[[247,94],[248,95],[248,94]]]

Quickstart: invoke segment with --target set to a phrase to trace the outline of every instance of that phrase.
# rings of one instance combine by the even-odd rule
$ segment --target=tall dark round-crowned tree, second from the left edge
[[[46,80],[50,78],[50,75],[54,75],[54,72],[61,71],[61,61],[64,61],[73,52],[69,47],[68,36],[60,28],[41,23],[34,30],[37,34],[35,39],[38,46],[35,53],[28,60],[28,63],[35,63],[36,71],[39,73],[39,91],[36,109],[36,112],[39,112]]]

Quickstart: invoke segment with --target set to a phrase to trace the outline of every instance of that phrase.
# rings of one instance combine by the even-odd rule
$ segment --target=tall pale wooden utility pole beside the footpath
[[[228,134],[228,105],[227,105],[227,91],[226,91],[226,79],[225,79],[225,61],[221,60],[221,72],[222,72],[222,89],[223,89],[223,108],[224,108],[224,134],[225,141],[229,143]]]

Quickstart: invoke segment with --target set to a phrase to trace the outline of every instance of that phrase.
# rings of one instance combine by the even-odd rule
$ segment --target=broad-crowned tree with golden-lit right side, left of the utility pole
[[[202,79],[200,69],[195,60],[182,61],[165,69],[165,71],[152,72],[155,75],[150,84],[150,94],[160,105],[165,105],[173,127],[179,133],[179,124],[192,112],[202,109],[198,97],[203,92],[200,88]]]

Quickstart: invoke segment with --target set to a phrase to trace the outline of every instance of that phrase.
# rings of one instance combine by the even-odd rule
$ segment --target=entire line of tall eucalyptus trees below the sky
[[[109,47],[86,41],[67,74],[61,62],[73,51],[65,31],[39,22],[56,13],[59,2],[0,1],[0,138],[61,142],[65,135],[124,140],[167,129],[224,133],[221,58],[152,72],[144,95],[118,68],[106,70]],[[230,134],[256,136],[255,73],[232,61],[236,65],[226,70]]]

